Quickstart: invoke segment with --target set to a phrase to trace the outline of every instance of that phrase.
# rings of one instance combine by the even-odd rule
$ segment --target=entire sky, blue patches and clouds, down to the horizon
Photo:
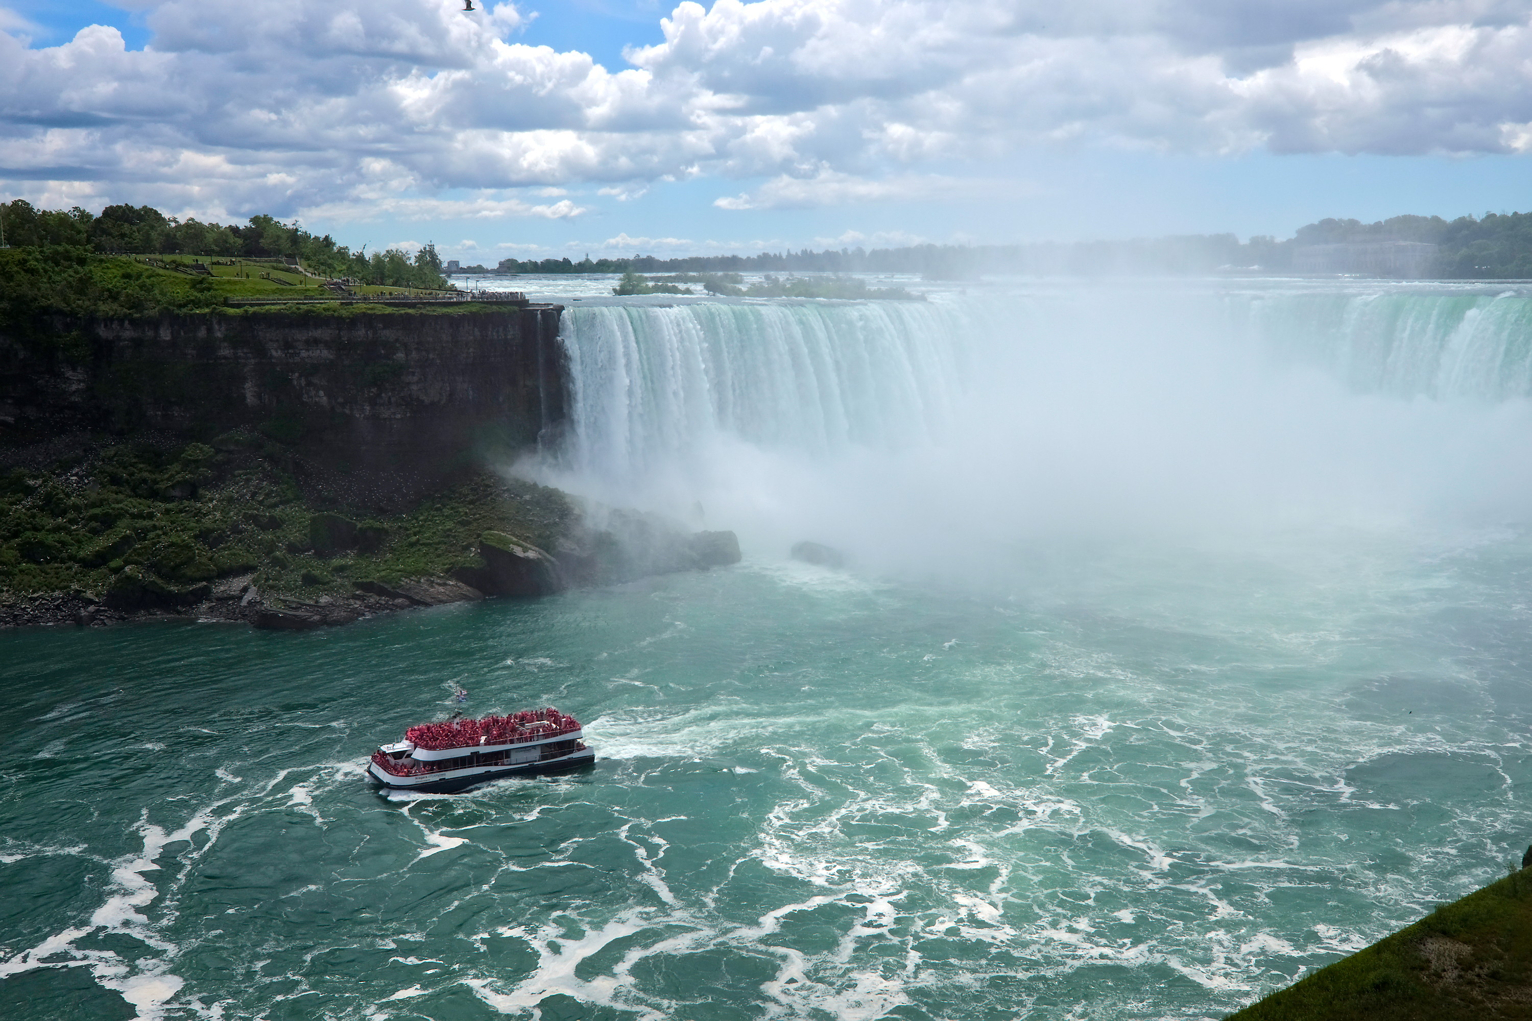
[[[469,262],[1532,210],[1532,3],[475,6],[0,0],[0,196]]]

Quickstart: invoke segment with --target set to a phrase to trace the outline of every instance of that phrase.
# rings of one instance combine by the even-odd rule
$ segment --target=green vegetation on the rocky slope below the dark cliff
[[[259,436],[116,442],[0,475],[0,591],[81,591],[126,606],[195,602],[256,574],[262,591],[322,595],[481,568],[486,531],[552,548],[574,520],[558,490],[476,475],[397,514],[305,496]],[[144,594],[147,592],[147,599]]]

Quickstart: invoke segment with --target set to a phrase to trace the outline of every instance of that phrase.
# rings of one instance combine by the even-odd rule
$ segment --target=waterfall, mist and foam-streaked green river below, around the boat
[[[0,1016],[1219,1018],[1532,842],[1532,288],[568,305],[743,563],[0,637]],[[458,686],[596,765],[371,790]]]

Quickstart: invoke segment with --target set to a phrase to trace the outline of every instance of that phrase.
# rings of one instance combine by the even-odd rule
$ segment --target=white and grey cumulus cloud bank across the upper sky
[[[0,6],[11,193],[567,219],[544,190],[697,175],[764,181],[731,210],[939,201],[1028,147],[1532,147],[1532,0],[688,0],[625,69],[525,44],[504,2],[135,6],[141,51],[37,46]]]

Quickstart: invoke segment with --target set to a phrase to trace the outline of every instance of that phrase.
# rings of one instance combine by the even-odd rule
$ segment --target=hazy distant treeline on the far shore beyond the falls
[[[1233,234],[1189,234],[1102,242],[1030,245],[912,245],[827,248],[758,256],[657,259],[504,259],[499,272],[901,272],[965,280],[982,272],[1030,276],[1288,272],[1298,248],[1356,242],[1426,242],[1439,246],[1429,276],[1445,279],[1532,277],[1532,213],[1396,216],[1377,223],[1327,219],[1301,227],[1287,240]],[[481,266],[475,266],[481,269]]]

